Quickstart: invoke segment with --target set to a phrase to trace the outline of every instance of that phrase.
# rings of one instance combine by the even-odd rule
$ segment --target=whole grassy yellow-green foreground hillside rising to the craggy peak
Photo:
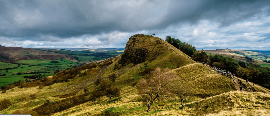
[[[148,79],[145,75],[157,67],[163,71],[169,68],[166,74],[177,77],[176,86],[180,83],[190,88],[193,96],[184,103],[186,107],[176,95],[168,94],[164,99],[158,97],[147,112],[139,88],[141,80]],[[249,83],[245,88],[249,91],[239,92],[237,83],[212,70],[160,38],[136,34],[129,38],[123,54],[117,57],[60,71],[35,82],[22,82],[2,92],[1,102],[8,104],[9,100],[10,103],[0,113],[54,116],[270,114],[269,89]],[[110,98],[112,89],[119,91]],[[95,97],[97,94],[101,95]]]

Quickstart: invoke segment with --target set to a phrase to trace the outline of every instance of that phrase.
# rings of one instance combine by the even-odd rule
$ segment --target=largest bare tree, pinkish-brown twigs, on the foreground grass
[[[150,78],[143,78],[138,83],[137,89],[147,103],[147,112],[151,111],[151,106],[158,97],[168,97],[173,82],[178,80],[176,74],[169,72],[169,70],[166,68],[161,72],[161,68],[158,67],[151,72]]]

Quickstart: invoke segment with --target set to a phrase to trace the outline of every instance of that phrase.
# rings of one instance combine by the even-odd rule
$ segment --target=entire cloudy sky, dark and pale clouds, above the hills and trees
[[[125,48],[138,33],[197,50],[270,50],[270,1],[0,0],[7,47]]]

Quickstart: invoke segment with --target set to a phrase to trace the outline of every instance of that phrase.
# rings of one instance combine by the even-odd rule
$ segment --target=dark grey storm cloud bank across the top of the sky
[[[269,2],[8,0],[0,2],[0,36],[33,40],[31,37],[42,35],[67,38],[110,31],[163,30],[172,24],[197,23],[201,19],[228,26],[253,17],[265,5]]]

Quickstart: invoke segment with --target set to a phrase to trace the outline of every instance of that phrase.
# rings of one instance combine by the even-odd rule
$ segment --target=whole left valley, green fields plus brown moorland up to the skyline
[[[13,84],[19,80],[33,80],[52,76],[59,71],[75,68],[87,62],[115,57],[123,53],[123,51],[103,51],[123,49],[70,51],[4,46],[0,46],[0,49],[0,87]],[[73,49],[77,50],[76,48]],[[39,74],[42,76],[37,76]]]

